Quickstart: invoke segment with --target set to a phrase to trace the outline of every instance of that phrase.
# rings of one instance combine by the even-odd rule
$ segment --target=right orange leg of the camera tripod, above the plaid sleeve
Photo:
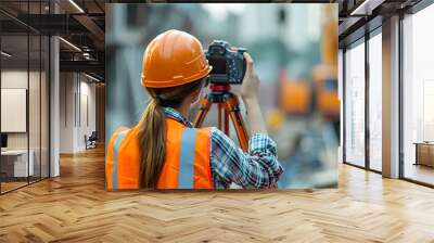
[[[240,141],[240,146],[243,151],[248,150],[248,137],[247,131],[244,126],[243,117],[240,114],[240,103],[238,97],[232,95],[225,101],[225,108],[229,113],[233,127],[237,131],[238,140]]]

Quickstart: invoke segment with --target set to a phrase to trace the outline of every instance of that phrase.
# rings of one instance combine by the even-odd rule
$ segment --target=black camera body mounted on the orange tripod
[[[205,50],[206,59],[213,71],[209,74],[209,82],[215,85],[241,85],[245,75],[246,63],[243,53],[244,48],[232,50],[225,40],[214,40],[208,50]]]

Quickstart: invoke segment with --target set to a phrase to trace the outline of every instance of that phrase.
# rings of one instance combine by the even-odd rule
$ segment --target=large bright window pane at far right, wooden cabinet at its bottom
[[[404,177],[434,184],[434,5],[404,20]]]

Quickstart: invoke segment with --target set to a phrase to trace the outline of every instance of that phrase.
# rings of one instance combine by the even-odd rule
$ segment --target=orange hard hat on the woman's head
[[[142,86],[167,88],[199,80],[212,71],[201,42],[184,31],[155,37],[143,54]]]

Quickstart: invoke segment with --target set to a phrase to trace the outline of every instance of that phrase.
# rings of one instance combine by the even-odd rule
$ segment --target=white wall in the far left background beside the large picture
[[[95,84],[82,74],[61,73],[60,92],[60,152],[84,151],[85,135],[95,130]]]

